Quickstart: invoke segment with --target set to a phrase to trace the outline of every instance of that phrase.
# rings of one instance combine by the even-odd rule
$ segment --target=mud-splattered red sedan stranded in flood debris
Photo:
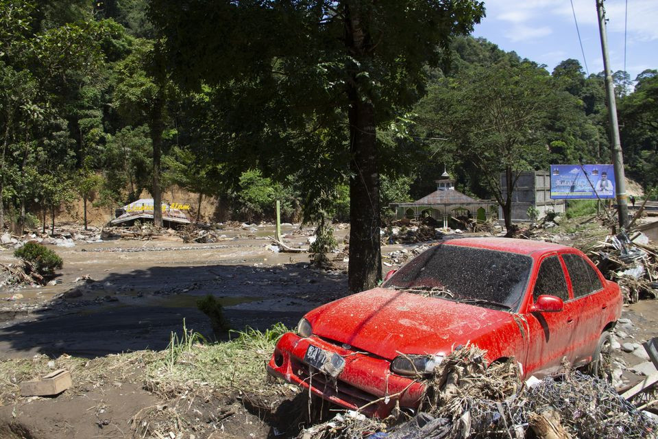
[[[371,416],[387,416],[396,400],[413,413],[424,392],[419,373],[469,342],[489,363],[514,357],[524,377],[553,374],[564,357],[596,369],[621,310],[619,286],[575,248],[454,239],[381,287],[307,313],[267,370]]]

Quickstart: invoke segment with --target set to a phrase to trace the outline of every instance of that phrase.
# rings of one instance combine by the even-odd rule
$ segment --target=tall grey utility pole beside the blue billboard
[[[623,228],[629,226],[629,202],[626,198],[626,178],[624,177],[624,156],[619,139],[619,124],[617,122],[617,103],[615,101],[615,84],[612,82],[612,71],[608,59],[608,38],[605,32],[605,8],[603,0],[596,0],[598,12],[598,29],[601,34],[601,51],[603,52],[603,69],[605,70],[605,91],[608,97],[608,117],[611,130],[610,149],[612,163],[615,169],[615,186],[617,195],[617,211],[619,225]]]

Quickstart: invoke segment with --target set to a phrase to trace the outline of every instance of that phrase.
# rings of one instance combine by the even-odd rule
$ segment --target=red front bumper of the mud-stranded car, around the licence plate
[[[345,359],[345,367],[337,379],[304,362],[309,344]],[[276,345],[267,365],[267,372],[350,410],[368,416],[385,418],[396,403],[401,410],[413,411],[425,391],[422,381],[402,377],[391,372],[389,360],[343,348],[312,335],[303,338],[286,333]]]

